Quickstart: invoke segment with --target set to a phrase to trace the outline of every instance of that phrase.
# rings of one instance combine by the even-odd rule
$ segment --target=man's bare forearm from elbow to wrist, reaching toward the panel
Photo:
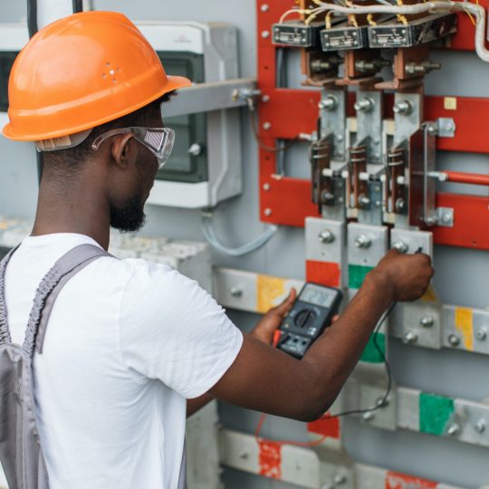
[[[302,362],[313,372],[312,399],[308,399],[312,417],[321,416],[338,396],[391,302],[388,281],[379,273],[369,273],[340,319],[307,351]]]

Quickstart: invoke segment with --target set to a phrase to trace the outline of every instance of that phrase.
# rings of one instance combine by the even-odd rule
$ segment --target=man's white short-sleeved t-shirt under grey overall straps
[[[5,276],[12,340],[24,341],[43,275],[88,236],[27,237]],[[54,304],[34,393],[51,489],[174,489],[186,398],[231,366],[242,333],[224,310],[167,265],[102,257]]]

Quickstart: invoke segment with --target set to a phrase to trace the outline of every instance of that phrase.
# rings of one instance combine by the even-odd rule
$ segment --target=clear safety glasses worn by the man
[[[108,130],[93,141],[91,149],[96,151],[105,139],[109,139],[112,136],[129,133],[132,133],[134,139],[146,146],[158,158],[158,169],[165,166],[175,142],[175,131],[169,128],[121,128]]]

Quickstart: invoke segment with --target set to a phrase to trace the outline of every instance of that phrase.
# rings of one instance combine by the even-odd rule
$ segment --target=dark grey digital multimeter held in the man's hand
[[[312,343],[331,325],[342,298],[343,294],[338,289],[305,283],[280,325],[276,347],[296,359],[302,359]]]

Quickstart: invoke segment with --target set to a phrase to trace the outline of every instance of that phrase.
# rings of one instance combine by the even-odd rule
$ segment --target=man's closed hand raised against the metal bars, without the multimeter
[[[435,273],[427,254],[401,254],[390,250],[372,273],[387,281],[392,301],[416,301],[426,291]]]

